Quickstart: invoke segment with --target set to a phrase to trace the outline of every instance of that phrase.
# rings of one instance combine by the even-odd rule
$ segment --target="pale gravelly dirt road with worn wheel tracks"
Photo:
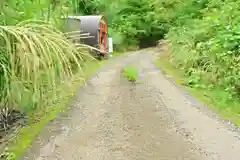
[[[239,160],[237,131],[152,64],[150,51],[117,57],[79,90],[24,160]],[[139,69],[135,85],[120,76]]]

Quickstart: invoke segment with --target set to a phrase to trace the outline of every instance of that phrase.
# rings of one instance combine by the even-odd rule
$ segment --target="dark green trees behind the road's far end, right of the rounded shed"
[[[109,35],[118,49],[138,45],[145,37],[160,39],[167,31],[165,19],[156,13],[156,0],[82,0],[84,14],[103,14],[108,19]],[[163,14],[162,14],[163,15]]]

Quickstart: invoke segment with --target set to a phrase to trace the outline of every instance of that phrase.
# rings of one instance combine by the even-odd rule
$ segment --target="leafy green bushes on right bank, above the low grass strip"
[[[190,77],[191,85],[221,87],[228,98],[240,98],[240,3],[188,0],[176,7],[167,35],[173,59]],[[200,85],[204,83],[204,85]]]

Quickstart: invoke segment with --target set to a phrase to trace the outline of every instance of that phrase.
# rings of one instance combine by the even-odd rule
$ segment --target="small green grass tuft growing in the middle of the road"
[[[123,68],[122,74],[127,80],[131,82],[137,81],[137,68],[134,66],[125,66]]]

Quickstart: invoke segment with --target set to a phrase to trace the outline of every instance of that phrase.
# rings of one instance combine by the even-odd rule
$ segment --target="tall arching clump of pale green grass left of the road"
[[[58,85],[71,78],[73,69],[81,70],[87,53],[84,46],[76,48],[63,33],[42,21],[0,26],[0,41],[1,108],[25,114],[44,110],[41,107],[53,102]]]

